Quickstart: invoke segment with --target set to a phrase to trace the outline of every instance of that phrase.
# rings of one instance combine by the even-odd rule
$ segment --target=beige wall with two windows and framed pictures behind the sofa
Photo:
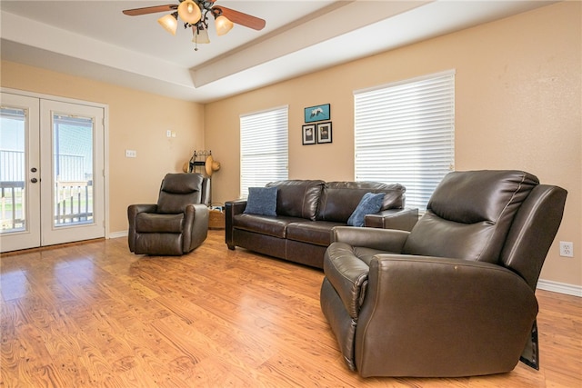
[[[213,198],[239,195],[239,114],[289,105],[289,178],[354,179],[353,91],[456,69],[456,169],[524,169],[568,190],[542,278],[582,285],[580,2],[566,2],[206,104]],[[349,49],[346,47],[346,49]],[[303,108],[331,104],[333,144],[302,145]]]

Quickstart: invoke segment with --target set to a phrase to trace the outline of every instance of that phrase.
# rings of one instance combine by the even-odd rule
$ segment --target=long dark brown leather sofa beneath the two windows
[[[331,229],[346,225],[366,193],[385,193],[380,212],[366,215],[366,226],[410,230],[417,209],[405,209],[405,187],[375,182],[287,180],[276,187],[276,215],[245,214],[246,200],[226,202],[226,244],[323,268]]]

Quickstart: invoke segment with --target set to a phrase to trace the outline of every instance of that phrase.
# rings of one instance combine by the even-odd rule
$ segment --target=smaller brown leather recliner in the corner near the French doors
[[[157,204],[131,204],[129,250],[135,254],[181,255],[208,234],[209,179],[201,174],[166,174]]]

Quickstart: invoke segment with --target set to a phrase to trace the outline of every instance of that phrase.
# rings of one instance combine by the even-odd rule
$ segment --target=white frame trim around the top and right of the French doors
[[[105,238],[109,238],[109,234],[110,234],[110,226],[109,226],[109,105],[90,102],[90,101],[84,101],[84,100],[77,100],[77,99],[73,99],[73,98],[65,98],[65,97],[60,97],[60,96],[55,96],[55,95],[45,95],[45,94],[39,94],[39,93],[34,93],[34,92],[27,92],[27,91],[5,88],[5,87],[0,87],[0,92],[11,94],[11,95],[22,95],[22,96],[26,96],[26,97],[34,97],[34,98],[38,98],[41,100],[51,100],[51,101],[56,101],[56,102],[69,103],[69,104],[88,105],[88,106],[94,106],[94,107],[103,109],[104,134],[103,134],[103,150],[102,151],[103,151],[104,169],[103,169],[103,172],[101,172],[101,174],[103,174],[103,178],[104,178],[103,179],[103,185],[104,185],[103,188],[104,188],[104,217],[105,217],[105,220],[104,220],[103,224],[105,227]]]

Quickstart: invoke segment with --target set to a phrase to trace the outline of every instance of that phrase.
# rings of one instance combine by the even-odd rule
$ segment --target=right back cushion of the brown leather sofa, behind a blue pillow
[[[378,182],[327,182],[316,216],[317,220],[346,223],[366,193],[385,193],[382,208],[402,209],[406,189],[401,184]]]

